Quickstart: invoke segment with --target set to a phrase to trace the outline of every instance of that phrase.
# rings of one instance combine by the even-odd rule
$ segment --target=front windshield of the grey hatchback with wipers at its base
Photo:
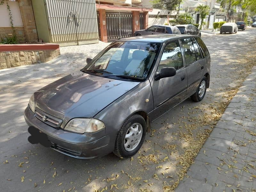
[[[81,71],[109,78],[145,79],[160,46],[161,43],[113,42]]]

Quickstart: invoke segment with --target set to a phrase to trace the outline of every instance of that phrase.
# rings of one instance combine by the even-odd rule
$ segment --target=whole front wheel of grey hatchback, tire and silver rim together
[[[130,116],[117,133],[113,153],[122,158],[135,155],[142,146],[145,135],[145,119],[138,114]]]

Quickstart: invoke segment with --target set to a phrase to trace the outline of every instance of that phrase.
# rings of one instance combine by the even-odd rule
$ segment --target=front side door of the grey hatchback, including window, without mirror
[[[174,67],[176,75],[151,82],[154,97],[153,120],[183,101],[187,92],[187,70],[178,40],[166,44],[157,71],[160,72],[163,67]]]

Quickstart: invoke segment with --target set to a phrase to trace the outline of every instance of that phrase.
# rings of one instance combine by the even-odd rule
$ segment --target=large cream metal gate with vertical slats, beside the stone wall
[[[45,0],[52,43],[98,43],[95,0]]]

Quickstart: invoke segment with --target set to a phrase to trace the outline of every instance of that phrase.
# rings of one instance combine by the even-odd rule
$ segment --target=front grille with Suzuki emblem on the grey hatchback
[[[62,124],[61,119],[51,116],[51,115],[45,113],[44,111],[40,110],[39,108],[35,109],[35,114],[38,119],[40,119],[41,121],[43,121],[44,123],[46,123],[52,127],[59,128],[60,125]]]

